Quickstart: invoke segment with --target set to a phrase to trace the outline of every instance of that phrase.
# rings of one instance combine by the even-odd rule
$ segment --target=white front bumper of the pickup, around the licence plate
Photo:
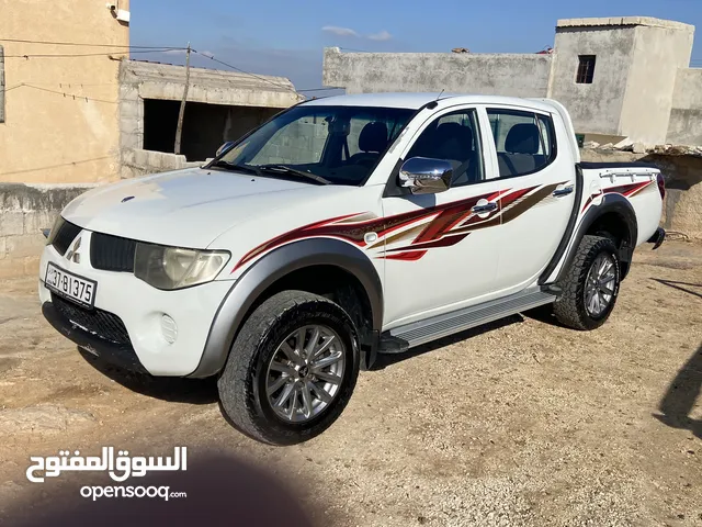
[[[91,233],[82,231],[80,236],[83,237],[82,246],[89,247]],[[86,310],[70,301],[59,304],[55,293],[44,284],[49,261],[98,283],[94,310]],[[78,262],[70,261],[49,245],[42,254],[38,293],[43,314],[49,324],[81,348],[127,370],[185,377],[197,368],[212,321],[234,283],[222,280],[177,291],[161,291],[131,272],[94,269],[88,254]],[[53,300],[56,300],[56,305]],[[95,315],[102,318],[92,324]],[[165,315],[176,324],[172,341],[168,338],[172,333],[165,330]],[[120,327],[113,324],[114,321]]]

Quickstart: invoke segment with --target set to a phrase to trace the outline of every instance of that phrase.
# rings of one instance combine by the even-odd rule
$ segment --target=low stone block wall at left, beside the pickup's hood
[[[43,228],[95,184],[0,183],[0,279],[36,274]]]

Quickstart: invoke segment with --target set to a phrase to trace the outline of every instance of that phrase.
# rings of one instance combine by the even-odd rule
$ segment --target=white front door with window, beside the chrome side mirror
[[[392,299],[384,329],[478,303],[494,291],[503,182],[486,179],[495,172],[494,156],[484,155],[486,133],[485,114],[454,106],[428,120],[400,153],[405,160],[449,160],[454,176],[444,192],[383,198],[385,292]]]

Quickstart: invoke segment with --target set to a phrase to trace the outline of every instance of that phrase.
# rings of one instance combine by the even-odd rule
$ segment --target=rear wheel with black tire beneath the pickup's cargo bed
[[[619,294],[620,261],[616,254],[616,246],[610,238],[589,235],[582,237],[566,277],[558,283],[563,291],[554,303],[554,314],[558,322],[580,330],[596,329],[607,322]],[[598,267],[600,267],[599,262],[602,259],[611,262],[613,278],[604,285],[608,291],[611,291],[611,294],[601,294],[604,299],[609,296],[609,302],[601,312],[597,312],[591,309],[592,304],[588,303],[592,291],[588,280],[593,265],[598,262]],[[604,278],[609,277],[608,271]],[[602,307],[602,305],[598,300],[598,307]]]

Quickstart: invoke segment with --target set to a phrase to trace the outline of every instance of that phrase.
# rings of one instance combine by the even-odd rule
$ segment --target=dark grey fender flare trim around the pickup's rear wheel
[[[588,229],[598,221],[602,215],[608,213],[615,213],[622,217],[624,221],[624,225],[626,226],[629,240],[624,240],[622,247],[620,249],[620,260],[629,264],[632,261],[632,255],[634,249],[636,248],[636,240],[638,238],[638,224],[636,222],[636,212],[634,212],[634,208],[630,203],[630,201],[624,198],[622,194],[604,194],[602,197],[602,202],[599,205],[593,205],[588,209],[588,211],[580,220],[580,224],[575,233],[573,238],[573,243],[568,247],[566,251],[565,259],[563,260],[563,265],[558,271],[558,276],[554,280],[554,282],[559,282],[565,274],[568,272],[568,268],[573,260],[575,259],[575,255],[580,246],[580,240],[588,232]],[[623,270],[622,280],[626,276],[626,270]]]

